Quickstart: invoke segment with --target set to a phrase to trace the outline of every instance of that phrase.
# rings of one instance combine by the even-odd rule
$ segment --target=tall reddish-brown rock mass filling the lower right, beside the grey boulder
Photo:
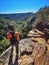
[[[37,43],[33,53],[35,54],[35,65],[49,65],[49,51],[47,52],[47,46],[45,44]]]

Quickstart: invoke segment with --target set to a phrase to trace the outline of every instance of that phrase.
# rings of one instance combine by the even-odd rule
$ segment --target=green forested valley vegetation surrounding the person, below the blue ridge
[[[30,19],[26,21],[20,20],[9,20],[5,18],[0,18],[0,54],[6,50],[11,44],[6,37],[6,33],[8,32],[8,25],[10,23],[14,24],[15,31],[18,31],[20,34],[20,38],[27,38],[28,31],[31,29],[29,27]],[[30,29],[29,29],[30,28]]]

